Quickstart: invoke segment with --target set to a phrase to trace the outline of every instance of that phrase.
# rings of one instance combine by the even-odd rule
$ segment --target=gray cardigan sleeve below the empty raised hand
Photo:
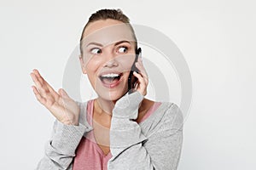
[[[75,150],[82,139],[85,129],[79,126],[54,122],[51,138],[45,144],[44,157],[38,162],[37,170],[71,170]]]

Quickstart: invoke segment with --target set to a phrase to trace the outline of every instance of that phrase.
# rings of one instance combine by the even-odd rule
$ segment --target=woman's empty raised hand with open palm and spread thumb
[[[67,95],[64,89],[60,88],[58,93],[56,93],[36,69],[32,71],[30,76],[35,83],[32,89],[38,101],[44,105],[59,122],[66,125],[79,125],[79,105]]]

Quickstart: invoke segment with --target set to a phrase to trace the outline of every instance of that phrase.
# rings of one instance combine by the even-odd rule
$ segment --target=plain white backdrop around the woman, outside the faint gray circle
[[[61,88],[85,22],[121,8],[131,22],[172,39],[188,62],[193,103],[179,170],[255,169],[253,1],[1,1],[1,169],[34,169],[54,117],[32,94],[33,68]]]

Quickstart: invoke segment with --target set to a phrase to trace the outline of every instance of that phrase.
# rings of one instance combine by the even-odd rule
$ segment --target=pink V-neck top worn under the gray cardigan
[[[92,126],[93,117],[93,102],[88,101],[87,105],[87,122]],[[147,113],[141,119],[143,122],[148,118],[159,106],[160,102],[154,102],[154,105],[147,111]],[[105,156],[102,149],[96,143],[93,130],[86,134],[86,138],[82,137],[79,146],[76,150],[76,156],[73,161],[73,170],[108,170],[108,160],[112,157],[109,151]]]

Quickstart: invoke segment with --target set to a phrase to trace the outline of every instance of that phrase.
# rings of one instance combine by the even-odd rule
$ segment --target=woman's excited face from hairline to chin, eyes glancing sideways
[[[82,70],[102,99],[117,100],[128,88],[128,77],[135,59],[131,29],[118,20],[90,23],[83,35]]]

